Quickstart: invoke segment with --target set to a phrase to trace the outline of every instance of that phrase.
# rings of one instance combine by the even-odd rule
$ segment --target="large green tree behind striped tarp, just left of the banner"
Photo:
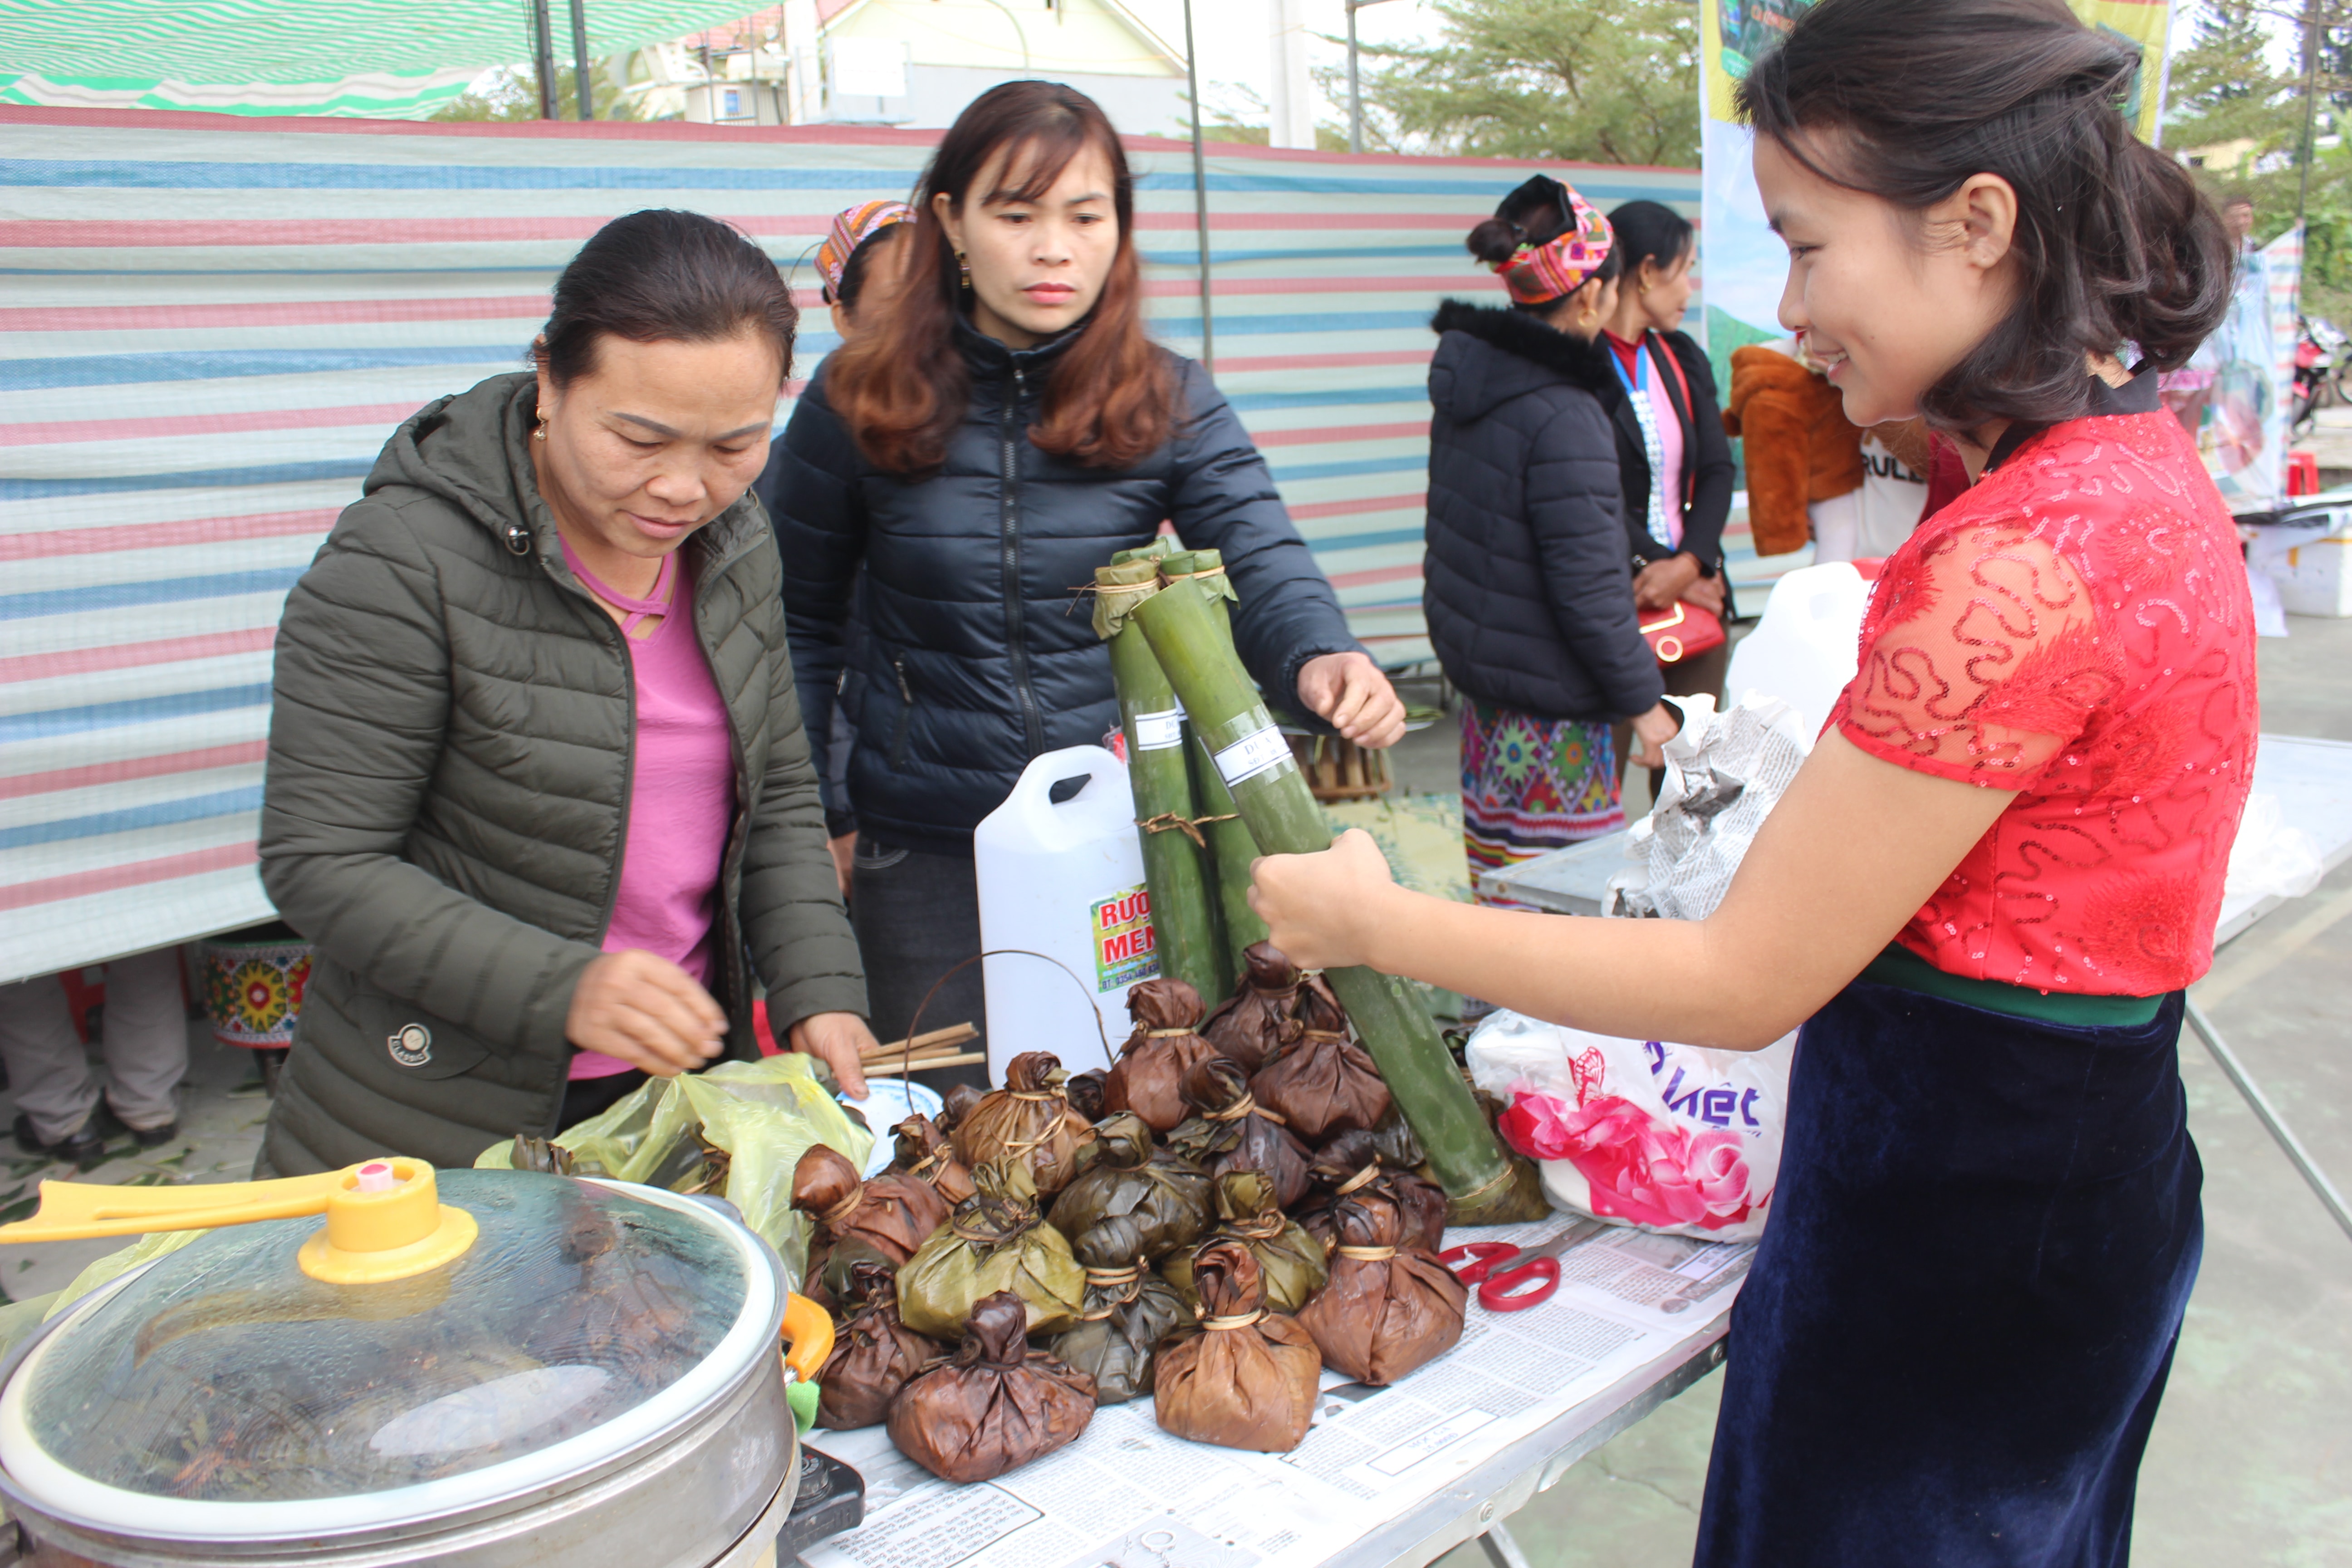
[[[1367,143],[1698,165],[1691,0],[1437,0],[1430,47],[1364,49]],[[1345,73],[1322,73],[1345,101]]]

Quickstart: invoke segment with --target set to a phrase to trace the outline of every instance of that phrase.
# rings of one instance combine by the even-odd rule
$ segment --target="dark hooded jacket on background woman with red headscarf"
[[[1524,310],[1432,322],[1423,609],[1446,677],[1545,719],[1628,719],[1665,691],[1635,625],[1609,350]]]

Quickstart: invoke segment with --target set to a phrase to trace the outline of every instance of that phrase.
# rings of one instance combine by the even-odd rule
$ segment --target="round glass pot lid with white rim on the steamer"
[[[94,1293],[0,1392],[0,1469],[139,1535],[376,1528],[595,1469],[774,1356],[776,1265],[720,1213],[529,1171],[437,1182],[480,1234],[405,1279],[318,1279],[299,1218]]]

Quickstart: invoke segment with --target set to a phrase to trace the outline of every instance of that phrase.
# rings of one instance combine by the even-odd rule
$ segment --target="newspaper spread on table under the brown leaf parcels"
[[[1446,1232],[1536,1246],[1573,1220]],[[1585,1222],[1590,1225],[1590,1220]],[[866,1523],[809,1568],[1303,1568],[1708,1328],[1752,1246],[1602,1227],[1559,1258],[1559,1291],[1524,1312],[1470,1295],[1461,1345],[1376,1389],[1324,1373],[1315,1429],[1284,1455],[1190,1443],[1148,1399],[1103,1406],[1042,1460],[950,1486],[882,1427],[811,1446],[866,1476]],[[1522,1286],[1524,1288],[1524,1286]]]

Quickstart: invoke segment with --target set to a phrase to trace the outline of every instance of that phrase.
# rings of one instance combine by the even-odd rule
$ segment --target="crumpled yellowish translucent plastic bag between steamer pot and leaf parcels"
[[[873,1133],[826,1093],[797,1051],[757,1063],[720,1063],[708,1072],[647,1079],[612,1110],[555,1133],[581,1173],[642,1182],[701,1124],[703,1138],[727,1150],[727,1201],[743,1211],[776,1255],[793,1288],[809,1272],[809,1215],[793,1211],[793,1166],[811,1145],[828,1145],[866,1168]],[[477,1171],[510,1171],[513,1138],[482,1150]],[[588,1171],[586,1166],[595,1166]]]

